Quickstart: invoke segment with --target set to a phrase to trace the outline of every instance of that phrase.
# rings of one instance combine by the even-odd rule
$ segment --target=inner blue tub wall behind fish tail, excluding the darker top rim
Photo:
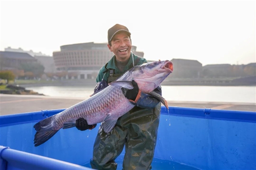
[[[92,157],[97,130],[61,129],[47,142],[34,147],[35,130],[31,127],[35,123],[1,127],[0,145],[79,165],[87,163]]]

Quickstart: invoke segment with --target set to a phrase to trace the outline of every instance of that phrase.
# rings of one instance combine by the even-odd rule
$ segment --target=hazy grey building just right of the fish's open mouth
[[[174,78],[199,78],[202,74],[202,64],[191,59],[172,59]]]

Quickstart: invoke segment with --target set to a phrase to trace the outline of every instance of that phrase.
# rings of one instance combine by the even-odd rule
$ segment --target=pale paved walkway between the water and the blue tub
[[[25,113],[41,110],[64,109],[69,108],[82,98],[61,98],[37,95],[14,95],[0,94],[0,115],[15,113]],[[254,111],[255,103],[220,103],[220,102],[177,102],[168,101],[169,106],[187,107],[187,108],[212,108],[222,110]]]

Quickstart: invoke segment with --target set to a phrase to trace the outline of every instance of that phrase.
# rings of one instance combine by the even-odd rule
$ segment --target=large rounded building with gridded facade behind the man
[[[133,46],[131,51],[143,57],[144,53],[136,51]],[[53,52],[53,59],[58,72],[67,71],[67,79],[95,79],[99,69],[105,65],[113,52],[109,51],[107,43],[79,43],[62,45],[61,51]]]

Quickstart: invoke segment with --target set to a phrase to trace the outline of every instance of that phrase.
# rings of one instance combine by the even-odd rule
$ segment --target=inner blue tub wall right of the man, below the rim
[[[163,114],[155,157],[203,170],[256,169],[256,123]]]

